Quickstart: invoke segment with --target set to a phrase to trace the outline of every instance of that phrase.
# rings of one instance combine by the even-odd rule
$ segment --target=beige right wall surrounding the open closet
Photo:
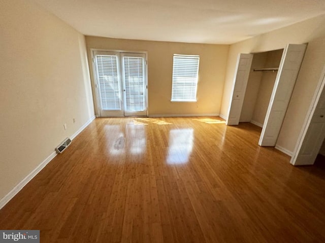
[[[228,112],[238,54],[282,49],[289,43],[308,43],[296,86],[277,141],[278,146],[288,151],[293,151],[325,64],[325,15],[231,45],[220,114],[226,116]]]

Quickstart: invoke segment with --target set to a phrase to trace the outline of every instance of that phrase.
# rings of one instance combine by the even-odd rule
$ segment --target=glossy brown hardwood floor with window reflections
[[[98,118],[1,211],[41,242],[325,242],[324,161],[294,167],[252,124]]]

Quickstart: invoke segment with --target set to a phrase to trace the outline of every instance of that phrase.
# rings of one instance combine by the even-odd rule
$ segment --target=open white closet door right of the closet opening
[[[306,47],[306,44],[289,44],[283,51],[261,137],[258,141],[260,146],[275,146],[276,144]]]

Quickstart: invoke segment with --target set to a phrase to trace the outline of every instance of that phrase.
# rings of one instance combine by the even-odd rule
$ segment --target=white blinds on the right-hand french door
[[[125,87],[125,110],[145,110],[144,58],[123,56],[123,72]]]

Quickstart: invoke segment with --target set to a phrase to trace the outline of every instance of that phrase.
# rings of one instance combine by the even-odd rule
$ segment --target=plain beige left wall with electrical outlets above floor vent
[[[84,36],[30,1],[0,6],[1,200],[94,112]]]

